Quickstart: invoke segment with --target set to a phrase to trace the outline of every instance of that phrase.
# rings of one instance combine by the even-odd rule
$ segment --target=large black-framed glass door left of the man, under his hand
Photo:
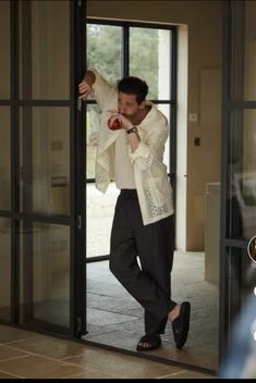
[[[3,1],[0,319],[78,336],[82,1]],[[85,16],[84,16],[85,17]]]

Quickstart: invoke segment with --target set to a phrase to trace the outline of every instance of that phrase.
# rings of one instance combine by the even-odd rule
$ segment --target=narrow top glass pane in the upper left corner
[[[0,1],[0,98],[10,99],[11,95],[11,35],[10,1]],[[4,47],[4,49],[3,49]]]

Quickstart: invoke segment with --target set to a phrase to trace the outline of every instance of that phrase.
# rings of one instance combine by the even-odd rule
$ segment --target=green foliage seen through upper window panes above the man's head
[[[122,27],[87,25],[87,67],[96,67],[106,79],[117,86],[122,74]],[[145,79],[148,98],[158,95],[158,30],[130,28],[130,75]]]

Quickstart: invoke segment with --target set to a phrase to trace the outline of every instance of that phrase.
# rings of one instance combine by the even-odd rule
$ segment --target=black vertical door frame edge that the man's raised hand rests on
[[[70,0],[72,3],[72,0]],[[71,139],[71,146],[74,148],[74,169],[73,172],[73,187],[74,187],[74,235],[72,238],[74,252],[74,260],[71,267],[71,275],[73,281],[73,295],[71,295],[71,310],[73,309],[73,337],[81,339],[86,331],[86,129],[84,128],[86,122],[86,106],[78,100],[77,85],[84,76],[86,67],[86,0],[78,0],[75,4],[74,14],[74,82],[73,82],[73,101],[74,104],[74,120],[75,128]],[[72,46],[72,44],[71,44]],[[71,47],[72,48],[72,47]],[[72,53],[71,53],[72,54]],[[73,272],[72,272],[73,271]]]

